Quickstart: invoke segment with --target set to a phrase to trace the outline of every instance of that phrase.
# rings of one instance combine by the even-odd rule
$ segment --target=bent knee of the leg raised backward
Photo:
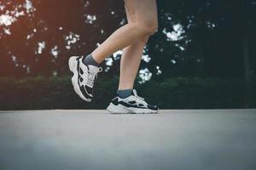
[[[145,36],[151,36],[158,29],[158,20],[144,20],[140,22],[140,28]]]

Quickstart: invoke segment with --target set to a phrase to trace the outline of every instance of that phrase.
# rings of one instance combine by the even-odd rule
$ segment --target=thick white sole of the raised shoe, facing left
[[[84,95],[82,94],[82,92],[80,91],[80,88],[79,88],[79,83],[78,83],[79,72],[77,71],[77,68],[76,68],[76,66],[78,65],[77,58],[78,57],[71,57],[68,60],[69,70],[73,72],[73,77],[72,77],[73,89],[76,92],[76,94],[79,95],[79,97],[81,99],[83,99],[84,101],[87,101],[87,102],[91,102],[91,99],[86,99],[84,97]]]

